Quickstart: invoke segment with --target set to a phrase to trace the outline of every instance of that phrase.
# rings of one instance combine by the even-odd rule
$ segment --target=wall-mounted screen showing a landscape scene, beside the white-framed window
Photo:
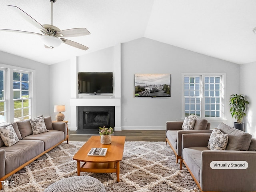
[[[170,97],[171,74],[134,74],[135,97]]]

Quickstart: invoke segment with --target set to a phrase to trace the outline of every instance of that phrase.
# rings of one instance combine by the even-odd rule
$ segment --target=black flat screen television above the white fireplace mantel
[[[113,94],[113,72],[78,72],[78,94]]]

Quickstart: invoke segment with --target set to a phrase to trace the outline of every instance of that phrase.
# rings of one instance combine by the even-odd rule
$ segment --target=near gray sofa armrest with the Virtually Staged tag
[[[202,151],[200,185],[203,191],[256,191],[256,152]],[[212,169],[212,161],[246,161],[246,169]],[[231,167],[231,162],[229,162]],[[234,167],[234,166],[233,166]],[[236,168],[236,167],[235,167]]]

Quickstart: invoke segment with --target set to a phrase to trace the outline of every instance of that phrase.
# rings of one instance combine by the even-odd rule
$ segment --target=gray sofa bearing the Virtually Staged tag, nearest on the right
[[[228,134],[226,150],[208,149],[211,134],[183,134],[183,163],[201,191],[256,191],[256,139],[224,123],[217,128]]]

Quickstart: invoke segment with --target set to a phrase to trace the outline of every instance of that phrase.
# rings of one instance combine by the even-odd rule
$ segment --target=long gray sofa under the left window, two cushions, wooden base
[[[0,138],[0,181],[5,180],[67,139],[66,123],[52,123],[50,116],[44,118],[44,123],[48,131],[39,134],[32,134],[30,120],[11,123],[19,141],[8,147]],[[1,189],[2,182],[0,182]]]

